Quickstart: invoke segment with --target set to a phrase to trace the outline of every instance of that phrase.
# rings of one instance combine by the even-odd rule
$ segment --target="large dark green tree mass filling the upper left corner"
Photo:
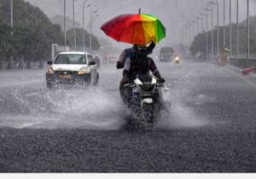
[[[50,58],[50,45],[63,44],[64,34],[60,26],[52,24],[38,7],[14,1],[14,36],[10,27],[10,0],[0,0],[0,53],[10,56],[39,60]]]

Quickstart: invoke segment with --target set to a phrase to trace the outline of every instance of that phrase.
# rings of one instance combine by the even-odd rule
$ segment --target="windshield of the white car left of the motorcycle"
[[[87,64],[84,54],[59,54],[54,64]]]

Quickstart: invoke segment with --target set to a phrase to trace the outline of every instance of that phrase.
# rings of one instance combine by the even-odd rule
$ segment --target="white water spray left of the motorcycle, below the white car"
[[[13,94],[15,112],[1,114],[2,126],[35,129],[117,130],[123,123],[119,96],[100,88],[41,90]]]

